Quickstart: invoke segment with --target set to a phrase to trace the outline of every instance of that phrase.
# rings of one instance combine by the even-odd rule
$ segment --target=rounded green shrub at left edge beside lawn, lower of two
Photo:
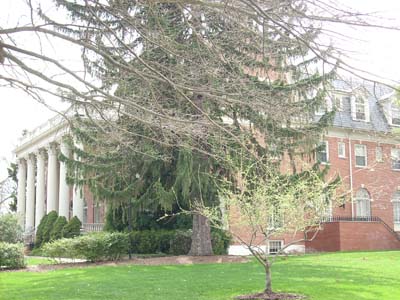
[[[9,269],[25,267],[24,245],[0,242],[0,268]]]

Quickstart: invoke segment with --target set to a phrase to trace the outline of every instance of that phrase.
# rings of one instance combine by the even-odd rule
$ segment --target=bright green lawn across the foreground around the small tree
[[[93,266],[0,273],[1,299],[232,299],[261,291],[256,262],[180,266]],[[400,252],[353,252],[280,259],[275,290],[319,300],[400,299]]]

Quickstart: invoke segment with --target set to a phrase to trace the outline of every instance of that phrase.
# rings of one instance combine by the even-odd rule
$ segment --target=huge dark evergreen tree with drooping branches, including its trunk
[[[89,49],[86,66],[104,89],[117,86],[95,110],[83,105],[90,121],[103,121],[76,126],[84,150],[74,149],[80,161],[70,163],[70,179],[79,174],[80,184],[116,207],[172,211],[177,203],[193,211],[203,201],[217,207],[215,182],[231,171],[224,156],[288,155],[296,172],[296,156],[312,152],[328,124],[329,114],[318,121],[312,115],[334,69],[319,74],[320,57],[298,42],[312,42],[318,27],[294,35],[265,13],[227,15],[218,5],[57,3],[90,24],[67,32],[90,37],[95,52],[105,53],[92,56]],[[269,4],[295,26],[307,7],[290,3]],[[198,243],[191,253],[211,254],[207,220],[194,214],[193,221]]]

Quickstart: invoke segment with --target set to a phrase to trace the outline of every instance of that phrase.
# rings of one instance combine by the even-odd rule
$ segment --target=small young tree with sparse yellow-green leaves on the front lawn
[[[293,174],[282,173],[281,167],[264,159],[244,158],[237,165],[235,180],[219,185],[226,214],[233,219],[230,232],[265,271],[264,292],[243,299],[288,299],[273,293],[271,268],[274,261],[292,245],[311,241],[324,218],[342,198],[337,196],[340,178],[325,178],[327,169],[303,165],[305,171]],[[207,206],[196,209],[207,216],[213,226],[221,227],[219,210]],[[289,237],[288,242],[271,254],[268,251],[270,240],[283,236]]]

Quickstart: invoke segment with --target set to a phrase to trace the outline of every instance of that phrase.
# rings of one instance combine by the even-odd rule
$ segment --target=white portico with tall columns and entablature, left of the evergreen
[[[14,150],[18,162],[17,213],[26,233],[34,233],[42,217],[57,211],[69,220],[84,218],[80,187],[66,182],[67,166],[59,154],[72,155],[65,142],[68,123],[56,116],[31,132],[26,132]]]

